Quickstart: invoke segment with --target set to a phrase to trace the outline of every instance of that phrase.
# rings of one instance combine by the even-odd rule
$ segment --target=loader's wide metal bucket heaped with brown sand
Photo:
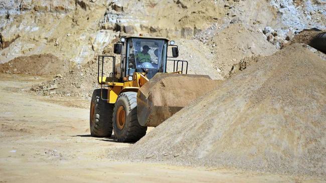
[[[156,73],[138,90],[138,121],[157,126],[221,82],[208,75]]]

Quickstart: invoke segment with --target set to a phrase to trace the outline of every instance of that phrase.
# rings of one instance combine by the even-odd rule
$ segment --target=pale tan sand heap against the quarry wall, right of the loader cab
[[[211,36],[211,38],[209,38]],[[262,33],[244,24],[232,23],[225,28],[216,29],[211,33],[204,31],[197,35],[199,40],[209,45],[214,58],[213,68],[223,77],[228,77],[233,64],[238,63],[245,57],[256,55],[271,55],[277,49],[268,42]],[[207,52],[207,49],[203,49]],[[192,60],[192,59],[189,59]],[[194,60],[196,61],[196,60]]]

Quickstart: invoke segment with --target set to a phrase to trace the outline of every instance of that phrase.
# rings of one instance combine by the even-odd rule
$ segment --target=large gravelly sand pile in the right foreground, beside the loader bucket
[[[324,177],[325,70],[326,62],[303,45],[287,46],[119,150],[117,158]]]

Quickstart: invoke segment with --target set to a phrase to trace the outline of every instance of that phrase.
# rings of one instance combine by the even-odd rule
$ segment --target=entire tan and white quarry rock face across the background
[[[191,43],[179,59],[206,67],[190,67],[190,73],[223,78],[244,57],[274,52],[309,24],[325,28],[324,6],[290,0],[3,0],[0,62],[51,53],[84,64],[110,52],[118,36],[143,33]]]

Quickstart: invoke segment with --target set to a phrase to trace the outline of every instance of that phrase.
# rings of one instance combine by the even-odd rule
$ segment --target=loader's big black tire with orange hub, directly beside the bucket
[[[114,135],[120,142],[136,142],[146,134],[147,126],[141,126],[137,118],[137,93],[119,94],[113,110]]]

